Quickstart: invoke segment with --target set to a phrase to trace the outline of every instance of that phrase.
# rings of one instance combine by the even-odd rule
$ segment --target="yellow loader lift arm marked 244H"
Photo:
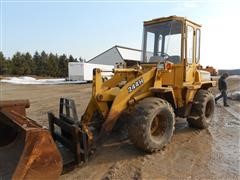
[[[133,73],[133,71],[129,71],[129,73]],[[138,73],[138,71],[135,72]],[[101,87],[102,91],[95,91],[96,94],[93,97],[95,97],[95,102],[98,105],[99,111],[104,112],[103,117],[105,121],[103,123],[102,128],[105,131],[109,132],[112,130],[115,122],[117,121],[121,113],[127,108],[129,102],[131,102],[131,100],[135,101],[134,96],[137,95],[138,100],[150,96],[151,92],[149,91],[149,88],[152,86],[154,82],[155,74],[156,67],[153,67],[146,72],[142,72],[142,75],[132,78],[123,87],[111,89],[108,89],[106,88],[106,86],[103,86],[105,84],[110,85],[111,84],[110,82],[107,81],[105,84],[102,84],[102,82],[99,81],[100,74],[95,74],[96,76],[95,87]],[[116,74],[116,77],[113,77],[112,80],[110,79],[109,81],[113,81],[115,78],[120,80],[118,76],[119,75]],[[116,83],[115,81],[113,82]],[[99,85],[98,83],[102,85]],[[105,88],[106,90],[104,90]],[[106,98],[104,97],[99,98],[99,96],[101,96],[100,94],[104,94],[105,97],[107,95],[108,96]],[[112,100],[111,107],[107,106],[107,103],[109,102],[107,100],[110,100],[110,102]],[[90,103],[92,101],[93,100],[91,100]]]

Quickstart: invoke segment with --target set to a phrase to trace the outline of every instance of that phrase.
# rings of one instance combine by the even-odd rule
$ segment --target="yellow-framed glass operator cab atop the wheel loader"
[[[170,16],[144,22],[142,61],[170,61],[181,68],[182,81],[192,83],[200,61],[201,26],[184,17]]]

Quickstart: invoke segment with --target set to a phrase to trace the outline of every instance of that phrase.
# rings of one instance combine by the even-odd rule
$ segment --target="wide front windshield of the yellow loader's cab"
[[[181,62],[182,23],[177,20],[144,25],[143,61],[159,62],[169,59]]]

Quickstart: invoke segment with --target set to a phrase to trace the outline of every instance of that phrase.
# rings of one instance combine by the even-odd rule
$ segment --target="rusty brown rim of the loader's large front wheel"
[[[158,114],[151,123],[151,136],[161,137],[165,134],[167,129],[167,119],[165,116]]]

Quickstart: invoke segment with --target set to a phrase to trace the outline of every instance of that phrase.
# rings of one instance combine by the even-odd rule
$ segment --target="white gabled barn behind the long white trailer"
[[[141,61],[141,50],[123,46],[113,46],[96,57],[90,59],[88,63],[113,65],[126,63],[131,66]]]

